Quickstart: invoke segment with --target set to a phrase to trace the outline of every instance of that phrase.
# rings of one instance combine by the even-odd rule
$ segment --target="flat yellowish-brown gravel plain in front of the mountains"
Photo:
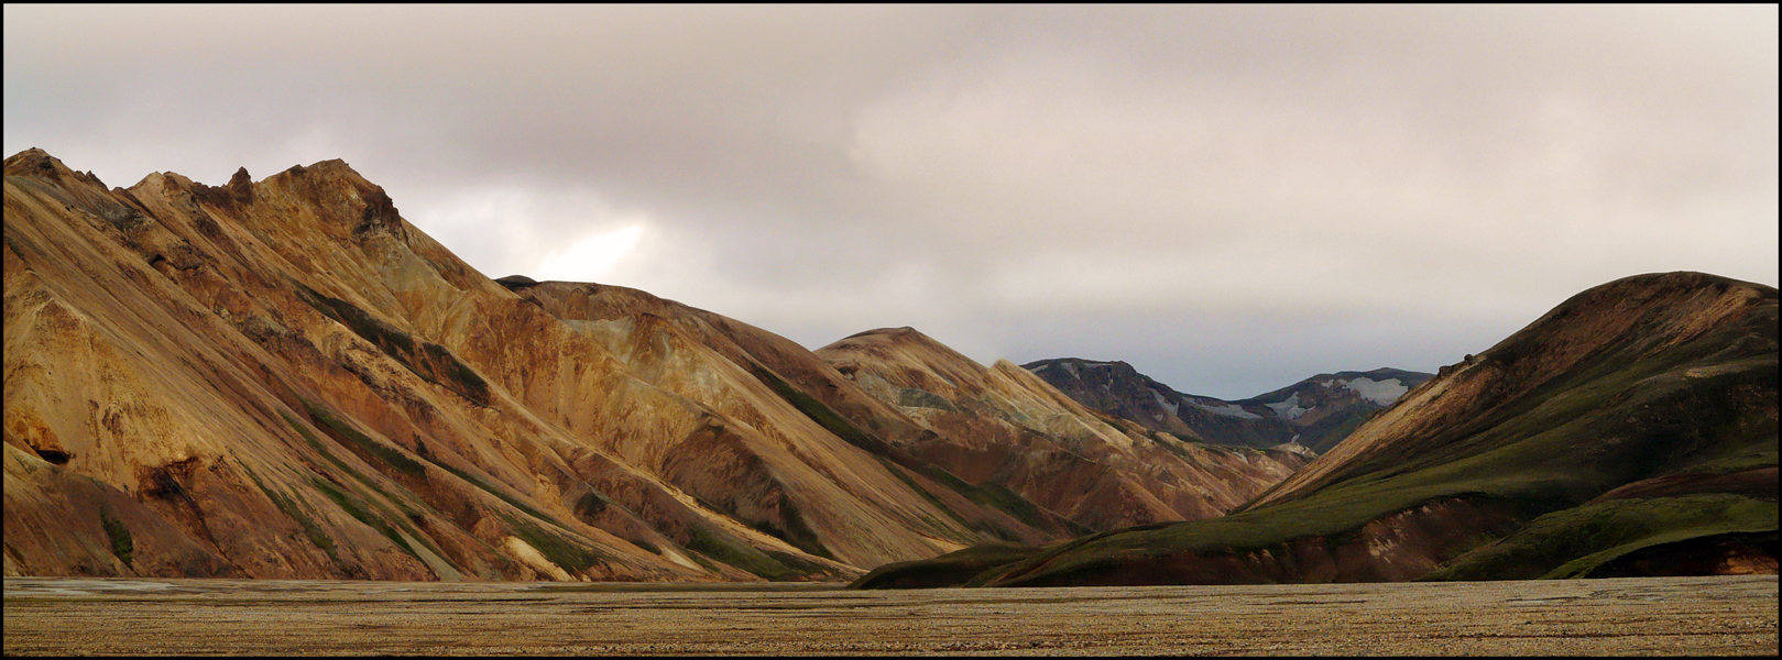
[[[1777,576],[1267,587],[5,578],[5,655],[1775,655]]]

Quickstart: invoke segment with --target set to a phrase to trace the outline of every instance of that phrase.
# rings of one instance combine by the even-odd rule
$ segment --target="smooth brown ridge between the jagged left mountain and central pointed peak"
[[[971,489],[948,487],[928,464],[898,450],[927,429],[861,393],[791,340],[625,286],[511,279],[504,286],[595,338],[656,386],[707,402],[784,441],[830,438],[854,445],[850,452],[834,447],[804,452],[820,470],[846,471],[846,479],[836,480],[850,487],[895,493],[898,486],[884,479],[903,482],[946,514],[936,523],[953,548],[982,541],[984,534],[1026,543],[1069,535],[1062,519],[1035,519],[1039,527],[1032,527],[993,505],[973,502]],[[870,457],[873,464],[830,464],[834,457]]]

